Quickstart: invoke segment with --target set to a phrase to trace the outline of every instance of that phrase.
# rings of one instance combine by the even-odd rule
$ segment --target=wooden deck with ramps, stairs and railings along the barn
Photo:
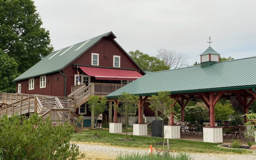
[[[124,84],[101,83],[91,83],[88,86],[72,86],[71,90],[73,92],[68,97],[0,93],[0,105],[2,106],[0,117],[4,114],[12,116],[13,114],[38,113],[43,118],[50,116],[53,125],[62,125],[64,122],[68,122],[75,127],[76,132],[82,132],[83,121],[78,121],[79,116],[75,113],[76,108],[85,103],[92,95],[105,97],[123,86]]]

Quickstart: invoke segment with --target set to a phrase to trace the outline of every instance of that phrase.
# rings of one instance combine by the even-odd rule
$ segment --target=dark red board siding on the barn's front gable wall
[[[73,66],[73,64],[92,65],[92,53],[99,53],[99,67],[113,67],[113,56],[115,55],[120,56],[120,68],[140,70],[140,68],[130,59],[130,57],[125,52],[123,52],[123,50],[115,42],[113,42],[112,39],[103,38],[97,44],[92,46],[92,48],[84,52],[84,54],[82,54],[63,69],[63,73],[67,76],[66,95],[71,93],[71,86],[74,85],[75,81],[74,75],[77,74],[76,68]],[[140,74],[144,75],[142,71],[140,71]],[[121,83],[120,81],[99,81],[95,80],[94,77],[91,77],[91,83],[92,82]]]

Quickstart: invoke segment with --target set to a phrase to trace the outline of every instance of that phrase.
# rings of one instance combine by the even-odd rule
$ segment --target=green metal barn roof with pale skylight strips
[[[71,62],[76,60],[79,56],[81,56],[88,49],[90,49],[94,44],[98,43],[103,37],[107,37],[110,34],[112,34],[114,36],[114,38],[116,38],[116,36],[114,35],[113,32],[108,32],[103,35],[86,40],[84,42],[71,45],[69,47],[60,49],[58,51],[54,51],[54,52],[50,53],[48,56],[46,56],[44,59],[42,59],[41,61],[36,63],[33,67],[29,68],[26,72],[24,72],[23,74],[21,74],[20,76],[15,78],[13,81],[20,81],[23,79],[28,79],[28,78],[32,78],[32,77],[36,77],[36,76],[43,76],[46,74],[59,72],[60,70],[67,67]],[[113,41],[118,46],[120,46],[114,39],[113,39]],[[122,47],[121,47],[121,49],[124,51],[124,49]],[[125,53],[128,55],[127,52],[125,52]],[[138,67],[140,68],[140,66],[138,66]],[[144,71],[142,69],[141,69],[141,71],[144,73]]]

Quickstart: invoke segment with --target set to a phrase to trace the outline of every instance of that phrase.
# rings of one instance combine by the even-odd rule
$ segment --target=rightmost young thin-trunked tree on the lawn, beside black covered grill
[[[162,137],[164,142],[164,121],[168,119],[170,114],[174,111],[172,104],[174,100],[170,98],[171,94],[169,92],[160,91],[156,95],[152,95],[149,100],[152,101],[152,104],[149,105],[149,108],[155,112],[156,115],[163,119],[162,122]],[[158,111],[161,113],[158,114]]]

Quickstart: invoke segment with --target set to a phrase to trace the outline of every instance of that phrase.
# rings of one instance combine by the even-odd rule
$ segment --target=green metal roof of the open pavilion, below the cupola
[[[148,73],[108,94],[115,98],[123,92],[140,96],[159,91],[171,93],[206,92],[256,88],[256,57],[216,62],[207,67],[192,66]]]

